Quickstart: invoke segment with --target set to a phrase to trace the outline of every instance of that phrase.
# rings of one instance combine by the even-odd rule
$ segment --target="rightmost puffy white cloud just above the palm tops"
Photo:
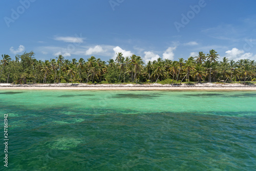
[[[239,60],[239,59],[250,59],[256,60],[256,55],[252,53],[244,53],[244,50],[239,50],[237,48],[233,48],[232,50],[226,51],[226,57],[230,60]]]

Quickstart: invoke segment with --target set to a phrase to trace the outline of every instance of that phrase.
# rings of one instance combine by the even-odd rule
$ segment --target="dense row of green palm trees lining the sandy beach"
[[[178,61],[162,60],[144,63],[140,56],[124,57],[118,53],[116,59],[102,61],[94,56],[85,61],[80,58],[68,60],[62,55],[51,60],[37,60],[34,52],[16,55],[11,59],[3,54],[0,62],[2,83],[122,83],[122,82],[233,82],[255,81],[256,62],[241,59],[237,62],[224,57],[218,61],[215,50],[209,54],[199,52],[196,57]]]

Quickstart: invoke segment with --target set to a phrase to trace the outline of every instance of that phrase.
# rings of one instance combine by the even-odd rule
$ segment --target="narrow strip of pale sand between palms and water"
[[[195,83],[195,84],[7,84],[0,83],[0,90],[230,90],[256,91],[256,84]]]

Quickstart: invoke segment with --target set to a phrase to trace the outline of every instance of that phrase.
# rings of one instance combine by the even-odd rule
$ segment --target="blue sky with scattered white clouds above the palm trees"
[[[220,58],[256,60],[255,7],[253,0],[2,0],[0,54],[106,61],[122,52],[146,62],[215,49]]]

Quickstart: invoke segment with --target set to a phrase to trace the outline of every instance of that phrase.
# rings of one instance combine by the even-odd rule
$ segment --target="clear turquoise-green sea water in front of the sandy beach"
[[[8,114],[10,170],[256,170],[255,104],[255,91],[0,90],[0,126]]]

